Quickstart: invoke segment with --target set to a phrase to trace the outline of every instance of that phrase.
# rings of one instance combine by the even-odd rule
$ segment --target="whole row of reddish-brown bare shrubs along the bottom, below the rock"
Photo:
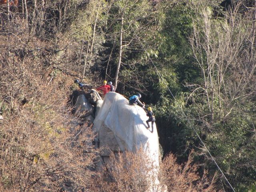
[[[93,191],[105,192],[216,192],[215,184],[196,174],[198,167],[189,159],[176,163],[174,155],[166,156],[160,167],[139,150],[137,154],[112,154],[106,167],[94,177]]]

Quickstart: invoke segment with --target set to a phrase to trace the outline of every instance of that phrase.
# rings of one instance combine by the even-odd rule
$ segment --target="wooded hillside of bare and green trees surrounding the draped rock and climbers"
[[[256,191],[255,0],[7,1],[0,24],[0,189],[88,182],[97,151],[66,130],[87,126],[68,108],[78,78],[140,92],[163,158],[193,150],[218,190]]]

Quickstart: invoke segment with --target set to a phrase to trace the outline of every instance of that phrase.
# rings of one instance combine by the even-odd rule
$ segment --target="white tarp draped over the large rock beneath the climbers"
[[[154,132],[146,129],[146,112],[140,106],[131,106],[124,96],[108,92],[105,95],[102,107],[94,120],[94,130],[99,132],[104,126],[109,128],[118,142],[120,150],[136,152],[142,148],[154,162],[159,164],[159,145],[156,124]]]

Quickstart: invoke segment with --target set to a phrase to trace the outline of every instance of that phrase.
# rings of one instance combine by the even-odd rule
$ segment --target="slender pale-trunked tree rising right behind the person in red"
[[[140,4],[140,7],[138,7]],[[110,17],[110,25],[115,26],[108,36],[114,39],[118,46],[118,56],[116,58],[116,73],[114,86],[118,86],[118,78],[122,64],[125,64],[124,57],[132,50],[141,50],[141,43],[146,39],[145,31],[154,30],[154,16],[158,10],[153,8],[150,1],[113,1],[109,3],[109,9],[118,9],[118,13]],[[109,12],[109,11],[107,11]],[[114,18],[114,19],[112,19]],[[145,22],[147,20],[147,22]],[[148,42],[146,42],[148,43]],[[146,46],[146,45],[144,45]]]

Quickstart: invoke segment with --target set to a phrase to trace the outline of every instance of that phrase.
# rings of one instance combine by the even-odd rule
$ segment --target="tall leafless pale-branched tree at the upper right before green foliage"
[[[251,30],[254,12],[242,15],[238,4],[224,18],[215,20],[207,3],[192,5],[196,17],[190,43],[203,83],[188,86],[194,87],[190,96],[206,98],[213,122],[218,115],[224,120],[236,112],[239,102],[255,94],[256,54]]]

